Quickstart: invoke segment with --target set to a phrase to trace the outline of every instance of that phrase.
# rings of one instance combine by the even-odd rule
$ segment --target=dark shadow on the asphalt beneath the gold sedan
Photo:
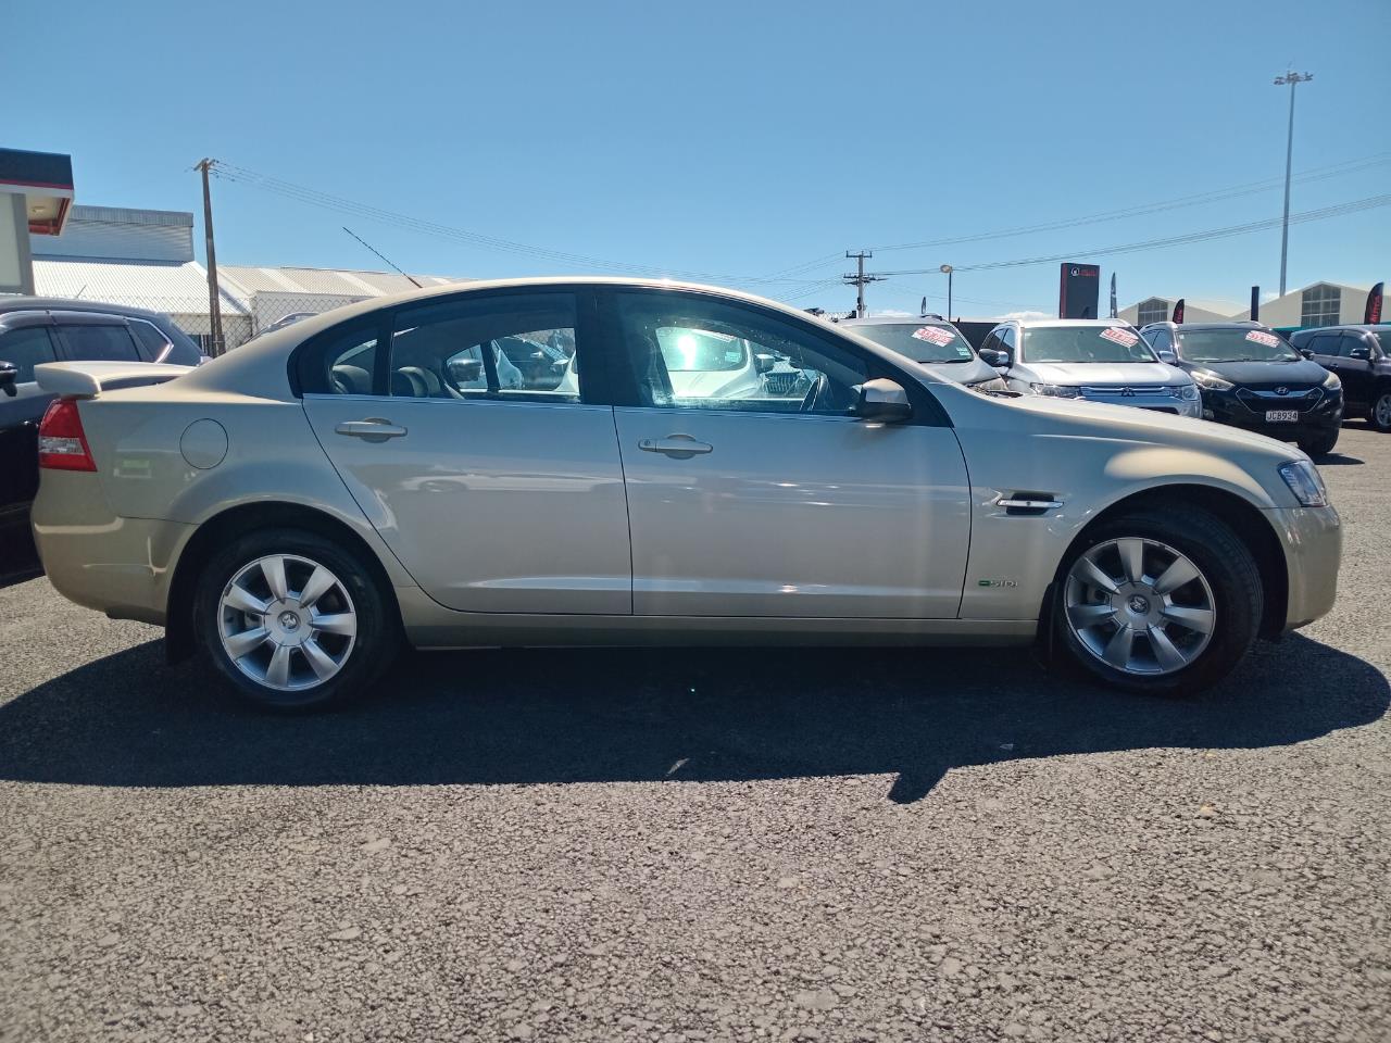
[[[408,655],[369,700],[277,716],[167,668],[157,641],[0,706],[0,779],[97,786],[748,780],[1146,747],[1284,745],[1387,711],[1372,665],[1257,645],[1196,701],[1045,673],[1022,651],[687,649]]]

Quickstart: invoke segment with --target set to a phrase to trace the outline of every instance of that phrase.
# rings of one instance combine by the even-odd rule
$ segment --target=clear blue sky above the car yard
[[[1292,211],[1391,192],[1391,4],[1363,3],[49,3],[7,21],[0,145],[68,152],[78,202],[200,207],[227,164],[480,236],[798,305],[836,254],[1278,182],[1289,63]],[[200,49],[207,46],[204,63]],[[216,181],[224,263],[412,271],[600,270]],[[1278,281],[1280,229],[1132,254],[1099,248],[1278,217],[1278,184],[1047,232],[878,250],[871,271],[1071,253],[1149,293],[1244,302]],[[1391,207],[1291,228],[1289,284],[1391,271]],[[782,277],[755,281],[821,261]],[[602,268],[612,271],[613,268]],[[869,286],[944,307],[944,277]],[[1056,307],[1057,264],[956,277],[958,314]],[[1104,289],[1103,289],[1104,307]]]

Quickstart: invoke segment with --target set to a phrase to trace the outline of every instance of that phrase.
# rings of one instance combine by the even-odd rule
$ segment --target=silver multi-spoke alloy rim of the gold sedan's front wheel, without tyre
[[[1124,673],[1161,676],[1193,662],[1212,640],[1212,587],[1187,556],[1157,540],[1097,544],[1078,558],[1064,591],[1067,626],[1082,647]]]

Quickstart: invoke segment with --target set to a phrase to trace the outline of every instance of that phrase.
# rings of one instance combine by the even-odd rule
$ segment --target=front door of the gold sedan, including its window
[[[613,412],[636,615],[957,615],[968,480],[921,385],[754,305],[634,289],[611,307],[630,377]],[[725,384],[746,345],[782,362],[761,384]],[[857,387],[886,370],[917,416],[851,416]]]

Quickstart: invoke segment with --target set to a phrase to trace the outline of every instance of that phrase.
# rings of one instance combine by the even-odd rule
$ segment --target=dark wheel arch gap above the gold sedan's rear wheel
[[[218,547],[225,547],[230,541],[260,528],[302,528],[332,540],[366,566],[387,605],[399,619],[401,605],[385,566],[352,526],[328,512],[303,503],[284,501],[239,503],[207,517],[178,555],[164,622],[164,647],[170,662],[186,659],[196,652],[193,599],[203,566]]]

